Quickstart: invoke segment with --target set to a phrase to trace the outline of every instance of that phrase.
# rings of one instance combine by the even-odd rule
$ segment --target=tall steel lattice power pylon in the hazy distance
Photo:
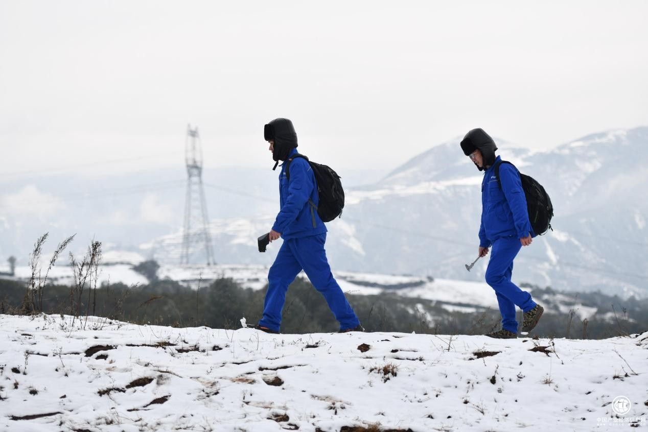
[[[189,264],[196,247],[204,247],[207,266],[216,264],[211,249],[207,201],[202,184],[202,148],[198,128],[187,125],[185,141],[185,161],[187,163],[187,196],[185,197],[185,227],[182,238],[180,264]]]

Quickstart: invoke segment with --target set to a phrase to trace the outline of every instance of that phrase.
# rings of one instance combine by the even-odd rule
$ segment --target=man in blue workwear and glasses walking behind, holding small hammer
[[[529,222],[520,174],[515,166],[502,163],[502,159],[495,156],[495,142],[480,128],[466,134],[461,141],[461,150],[480,171],[484,171],[481,181],[479,256],[486,256],[491,248],[486,283],[495,290],[502,313],[502,329],[487,336],[515,338],[518,337],[515,306],[524,312],[522,332],[530,332],[544,312],[544,308],[531,299],[531,294],[511,282],[515,256],[522,246],[530,245],[536,236]],[[496,177],[498,170],[500,181]]]

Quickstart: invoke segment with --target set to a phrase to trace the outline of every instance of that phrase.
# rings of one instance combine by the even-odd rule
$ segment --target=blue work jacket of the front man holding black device
[[[297,153],[297,149],[293,148],[288,158]],[[281,164],[279,204],[281,210],[272,229],[280,233],[284,240],[327,232],[316,208],[319,197],[315,174],[303,157],[295,157],[290,163],[290,181],[286,177],[286,162]]]

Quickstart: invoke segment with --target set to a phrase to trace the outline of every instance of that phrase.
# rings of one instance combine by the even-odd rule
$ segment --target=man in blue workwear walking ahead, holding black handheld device
[[[286,291],[303,269],[340,323],[340,333],[363,332],[364,328],[330,271],[324,250],[327,228],[316,210],[319,198],[315,175],[307,159],[294,157],[298,154],[297,133],[292,122],[288,119],[272,120],[264,127],[264,138],[270,143],[269,150],[275,161],[272,169],[283,161],[279,174],[281,210],[270,230],[270,242],[281,237],[283,244],[268,272],[263,317],[255,328],[266,333],[279,333]],[[288,176],[287,161],[290,161],[287,164],[290,168]]]

